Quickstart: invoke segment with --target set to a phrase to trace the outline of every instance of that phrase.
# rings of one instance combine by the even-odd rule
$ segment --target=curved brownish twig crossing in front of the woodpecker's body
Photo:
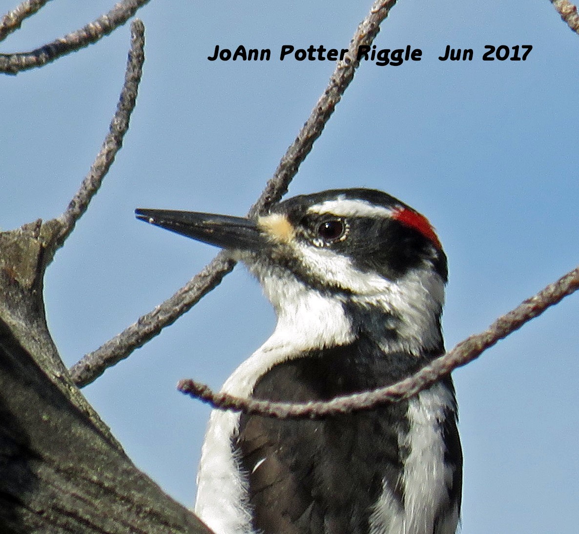
[[[181,392],[200,398],[214,408],[232,409],[282,419],[344,414],[372,408],[377,404],[394,403],[412,397],[457,367],[476,359],[500,339],[518,330],[527,321],[537,317],[577,289],[579,289],[579,267],[549,284],[533,297],[526,299],[511,312],[499,317],[487,330],[461,341],[450,352],[433,360],[414,375],[391,386],[373,391],[335,397],[329,401],[291,404],[239,398],[227,393],[214,393],[208,386],[189,379],[180,381],[177,387]]]

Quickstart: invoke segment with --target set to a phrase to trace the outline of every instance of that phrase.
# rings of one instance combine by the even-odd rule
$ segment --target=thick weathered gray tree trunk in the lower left
[[[42,300],[57,231],[0,233],[0,532],[207,534],[134,466],[58,356]]]

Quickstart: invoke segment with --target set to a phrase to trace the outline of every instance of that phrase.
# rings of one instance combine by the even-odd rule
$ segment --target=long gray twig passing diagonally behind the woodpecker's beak
[[[368,16],[358,25],[343,61],[336,65],[328,86],[316,103],[312,114],[300,130],[298,137],[281,158],[273,177],[259,199],[251,207],[248,215],[254,217],[278,202],[287,191],[290,181],[312,149],[314,141],[322,133],[325,123],[334,112],[336,104],[342,98],[346,87],[354,77],[359,62],[356,60],[358,46],[371,45],[380,31],[380,23],[386,18],[396,0],[379,0],[372,5]],[[218,254],[198,275],[179,289],[173,297],[161,303],[157,308],[140,317],[137,323],[131,324],[123,332],[107,341],[100,348],[78,361],[72,368],[72,379],[82,387],[94,381],[105,369],[128,357],[135,349],[144,345],[160,331],[175,322],[179,316],[189,310],[204,295],[216,287],[223,276],[234,267],[235,262],[226,253]]]

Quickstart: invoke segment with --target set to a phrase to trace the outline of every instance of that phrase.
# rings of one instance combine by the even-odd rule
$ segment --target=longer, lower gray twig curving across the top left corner
[[[108,13],[98,17],[80,30],[56,39],[52,43],[47,43],[32,50],[32,52],[0,54],[0,72],[18,74],[31,68],[42,67],[50,61],[88,46],[126,23],[137,12],[137,9],[148,2],[149,0],[123,0]]]

